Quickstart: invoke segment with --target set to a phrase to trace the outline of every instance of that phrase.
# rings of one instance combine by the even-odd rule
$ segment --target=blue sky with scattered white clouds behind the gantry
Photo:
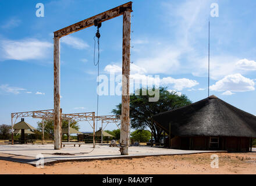
[[[37,17],[35,5],[44,4]],[[127,1],[0,1],[0,123],[10,113],[53,108],[53,32]],[[211,17],[218,3],[219,17]],[[169,90],[191,101],[207,97],[208,20],[214,94],[256,115],[255,1],[134,1],[131,13],[131,74],[159,75]],[[63,113],[96,112],[95,27],[61,38]],[[122,16],[100,28],[100,73],[120,73]],[[110,115],[118,95],[99,96],[99,115]],[[34,127],[38,120],[26,118]],[[81,131],[90,131],[86,122]],[[106,129],[115,129],[114,124]]]

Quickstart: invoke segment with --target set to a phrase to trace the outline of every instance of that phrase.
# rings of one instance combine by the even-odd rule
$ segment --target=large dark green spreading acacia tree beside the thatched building
[[[147,95],[142,95],[143,91],[147,92]],[[131,128],[136,130],[150,128],[156,142],[159,142],[163,130],[152,120],[152,116],[191,104],[186,95],[179,95],[175,91],[170,92],[167,87],[159,87],[159,100],[157,102],[148,101],[148,98],[152,96],[148,94],[148,90],[145,90],[145,88],[140,88],[136,92],[140,92],[140,94],[130,95]],[[112,113],[121,115],[121,109],[122,103],[119,103],[119,105],[116,105],[116,109],[112,110]]]

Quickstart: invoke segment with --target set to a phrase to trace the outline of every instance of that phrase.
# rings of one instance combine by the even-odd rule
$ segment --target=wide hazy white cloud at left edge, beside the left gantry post
[[[36,39],[18,41],[1,40],[0,45],[1,60],[29,60],[45,58],[49,49],[52,48],[52,44],[50,42],[39,41]]]

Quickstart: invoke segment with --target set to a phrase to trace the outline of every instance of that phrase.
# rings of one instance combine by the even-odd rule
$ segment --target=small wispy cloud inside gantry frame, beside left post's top
[[[66,45],[70,45],[70,47],[76,49],[85,49],[89,47],[89,45],[85,41],[71,35],[66,35],[65,37],[62,37],[61,42],[63,42]]]

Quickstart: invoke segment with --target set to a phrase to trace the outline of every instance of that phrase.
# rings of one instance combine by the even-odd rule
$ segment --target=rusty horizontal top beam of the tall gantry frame
[[[61,38],[65,35],[74,33],[76,31],[82,30],[84,28],[94,26],[94,20],[95,19],[99,19],[100,20],[99,22],[101,23],[101,22],[105,22],[106,20],[112,19],[114,17],[118,17],[120,15],[123,15],[123,13],[126,10],[130,10],[130,12],[132,12],[133,10],[131,9],[131,3],[132,3],[131,1],[127,2],[123,5],[117,6],[116,8],[110,9],[106,12],[102,12],[102,13],[99,13],[98,15],[96,15],[96,16],[93,16],[93,17],[90,17],[88,19],[82,20],[81,22],[74,23],[74,24],[72,24],[68,27],[62,28],[61,30],[57,30],[57,31],[54,32],[54,37],[55,38],[56,37]]]

